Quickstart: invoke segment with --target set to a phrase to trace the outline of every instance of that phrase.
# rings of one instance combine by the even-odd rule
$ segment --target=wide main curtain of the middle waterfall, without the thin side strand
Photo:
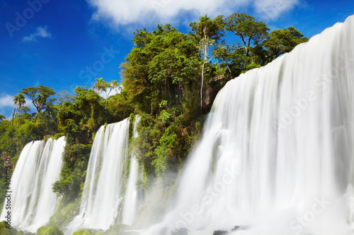
[[[129,119],[101,126],[96,133],[81,198],[71,229],[108,229],[115,223],[124,191]]]

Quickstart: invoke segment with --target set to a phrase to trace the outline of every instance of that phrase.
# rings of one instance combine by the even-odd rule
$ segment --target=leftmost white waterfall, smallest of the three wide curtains
[[[59,197],[52,193],[52,184],[59,179],[64,146],[61,137],[47,143],[33,141],[23,148],[11,177],[11,226],[35,232],[57,210]],[[1,220],[7,211],[4,205]]]

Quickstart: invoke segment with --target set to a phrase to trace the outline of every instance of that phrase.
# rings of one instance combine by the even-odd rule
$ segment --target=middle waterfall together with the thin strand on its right
[[[139,116],[136,116],[134,138],[137,137],[138,122]],[[89,159],[80,214],[69,224],[67,234],[79,228],[106,230],[118,222],[132,224],[135,219],[139,167],[134,153],[131,161],[128,155],[129,126],[129,119],[125,119],[98,129]]]

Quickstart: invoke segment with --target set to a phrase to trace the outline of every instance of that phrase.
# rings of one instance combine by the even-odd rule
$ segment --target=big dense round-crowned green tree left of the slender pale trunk
[[[157,114],[161,100],[181,105],[195,88],[198,92],[200,58],[195,40],[167,24],[152,32],[137,30],[133,42],[135,47],[120,66],[122,94],[139,110]]]

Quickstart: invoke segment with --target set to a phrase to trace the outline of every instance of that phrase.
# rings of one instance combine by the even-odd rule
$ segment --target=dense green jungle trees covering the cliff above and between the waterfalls
[[[7,157],[16,164],[26,143],[65,135],[64,166],[53,185],[53,191],[63,198],[50,224],[67,224],[79,207],[96,131],[105,123],[139,114],[139,137],[132,145],[138,150],[139,164],[144,165],[142,184],[147,190],[153,181],[159,181],[167,194],[175,180],[169,180],[168,173],[183,166],[210,111],[212,102],[208,100],[213,100],[227,81],[213,78],[220,74],[235,78],[307,40],[293,27],[269,32],[265,23],[244,13],[215,19],[202,16],[199,22],[190,23],[188,34],[169,24],[157,25],[153,31],[137,30],[132,38],[135,46],[120,65],[122,86],[117,80],[96,78],[94,90],[77,87],[73,95],[56,94],[40,85],[23,88],[13,98],[16,108],[12,119],[0,116],[0,174],[4,174]],[[25,97],[35,112],[25,106]],[[0,190],[4,190],[5,177],[0,179]],[[60,231],[55,226],[42,227],[38,234]]]

